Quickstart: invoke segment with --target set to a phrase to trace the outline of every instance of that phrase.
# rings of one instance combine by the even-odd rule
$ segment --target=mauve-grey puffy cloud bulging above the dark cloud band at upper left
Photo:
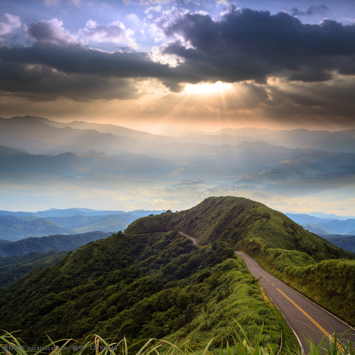
[[[61,45],[77,43],[77,37],[67,31],[63,27],[63,22],[59,21],[58,18],[31,23],[27,27],[27,30],[39,42],[50,42]]]

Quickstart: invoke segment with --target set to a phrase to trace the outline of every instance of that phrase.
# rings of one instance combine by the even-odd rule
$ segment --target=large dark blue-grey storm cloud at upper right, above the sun
[[[165,53],[185,59],[176,69],[181,76],[264,82],[284,71],[290,80],[316,82],[329,80],[333,70],[355,73],[354,25],[331,20],[302,24],[286,12],[271,15],[235,7],[219,21],[186,13],[161,17],[157,25],[173,40]]]

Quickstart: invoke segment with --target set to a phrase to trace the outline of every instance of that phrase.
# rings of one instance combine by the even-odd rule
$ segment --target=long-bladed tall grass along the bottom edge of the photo
[[[129,346],[125,337],[119,342],[109,342],[109,340],[114,339],[103,339],[96,334],[89,335],[83,342],[77,342],[74,339],[53,341],[47,335],[50,343],[46,347],[41,347],[41,349],[36,351],[31,350],[21,339],[14,337],[12,333],[8,332],[4,332],[4,334],[0,336],[0,348],[3,350],[0,353],[5,353],[5,355],[63,355],[63,353],[72,355],[160,355],[159,350],[162,350],[162,355],[301,355],[299,349],[292,352],[287,343],[285,343],[283,349],[279,349],[277,353],[274,352],[272,346],[269,344],[264,347],[260,346],[264,324],[257,336],[256,345],[252,346],[244,329],[236,320],[234,320],[234,322],[237,324],[239,332],[233,327],[235,337],[232,337],[233,344],[231,346],[227,340],[225,348],[223,348],[222,341],[220,349],[212,351],[208,350],[213,341],[213,339],[211,339],[204,347],[204,350],[199,353],[189,348],[188,342],[181,342],[177,345],[176,343],[172,344],[166,340],[151,338],[141,340],[140,342]],[[244,337],[243,339],[240,333],[242,334],[242,337]],[[342,334],[342,337],[333,334],[333,337],[331,336],[328,339],[325,339],[325,341],[323,337],[318,345],[315,344],[312,339],[306,339],[308,348],[310,349],[308,354],[355,355],[354,345],[350,338],[350,329],[348,329],[349,342],[344,343],[340,340],[343,338],[344,334]],[[93,340],[88,340],[89,338],[93,338]],[[137,348],[138,344],[142,345],[141,348],[138,351],[132,351],[134,347]]]

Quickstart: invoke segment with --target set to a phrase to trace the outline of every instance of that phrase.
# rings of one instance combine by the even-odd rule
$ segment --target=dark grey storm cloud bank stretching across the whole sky
[[[331,79],[334,71],[355,74],[355,25],[343,26],[331,20],[302,24],[285,12],[271,15],[268,11],[235,7],[218,21],[208,14],[178,10],[164,16],[156,25],[170,42],[160,49],[182,58],[175,67],[154,62],[146,52],[109,53],[88,48],[65,30],[61,21],[43,20],[28,26],[28,32],[37,40],[31,47],[0,47],[1,65],[9,67],[1,87],[9,92],[40,95],[54,86],[48,99],[51,94],[75,98],[78,92],[76,99],[81,100],[136,95],[130,87],[125,97],[129,84],[124,80],[113,84],[114,78],[154,77],[171,91],[179,92],[182,83],[264,83],[270,75],[320,82]],[[18,66],[18,72],[10,62]],[[28,65],[44,67],[34,69]],[[28,76],[36,77],[33,88],[26,84]],[[110,94],[110,87],[115,85],[122,90]],[[104,94],[92,93],[101,88]]]

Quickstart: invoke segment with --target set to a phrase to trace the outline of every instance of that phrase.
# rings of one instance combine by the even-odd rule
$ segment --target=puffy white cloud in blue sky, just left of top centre
[[[89,20],[86,22],[85,28],[80,29],[78,32],[87,39],[99,43],[113,42],[138,49],[136,40],[133,38],[135,31],[130,28],[126,29],[121,21],[114,21],[100,26],[96,21]]]

